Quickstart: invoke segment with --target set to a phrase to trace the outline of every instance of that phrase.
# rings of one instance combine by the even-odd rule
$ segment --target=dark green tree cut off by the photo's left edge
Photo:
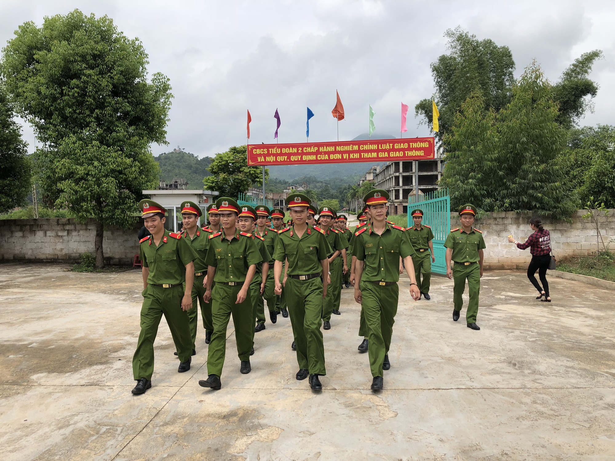
[[[30,191],[27,144],[13,117],[13,106],[0,84],[0,213],[25,205]]]

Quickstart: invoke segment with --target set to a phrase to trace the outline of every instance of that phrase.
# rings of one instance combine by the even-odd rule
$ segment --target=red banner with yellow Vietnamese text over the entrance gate
[[[434,158],[434,138],[248,144],[248,165],[312,165]]]

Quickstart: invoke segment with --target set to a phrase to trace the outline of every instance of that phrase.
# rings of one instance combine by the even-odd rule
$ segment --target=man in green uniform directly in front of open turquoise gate
[[[406,229],[406,234],[410,238],[412,248],[415,249],[416,255],[412,257],[412,262],[415,265],[416,284],[421,290],[421,294],[429,301],[429,286],[431,282],[431,263],[435,261],[434,256],[434,232],[431,227],[424,226],[423,210],[413,210],[412,219],[415,225]],[[421,282],[421,274],[423,281]],[[420,298],[419,298],[420,299]]]

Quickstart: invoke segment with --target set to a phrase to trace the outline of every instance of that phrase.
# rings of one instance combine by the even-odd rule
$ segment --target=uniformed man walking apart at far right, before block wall
[[[486,248],[483,233],[472,227],[476,208],[471,203],[459,207],[461,229],[453,229],[446,237],[446,277],[454,280],[453,320],[459,320],[463,306],[462,294],[466,290],[466,280],[470,301],[467,303],[467,328],[480,329],[476,325],[480,278],[483,277],[483,249]],[[454,262],[451,269],[451,261]]]

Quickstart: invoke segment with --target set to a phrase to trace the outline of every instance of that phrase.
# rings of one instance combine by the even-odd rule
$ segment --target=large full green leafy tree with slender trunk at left
[[[79,10],[23,23],[4,49],[7,90],[42,142],[46,199],[95,219],[97,268],[105,226],[133,226],[141,191],[157,185],[149,146],[166,143],[172,95],[164,75],[148,81],[147,65],[138,39]]]

